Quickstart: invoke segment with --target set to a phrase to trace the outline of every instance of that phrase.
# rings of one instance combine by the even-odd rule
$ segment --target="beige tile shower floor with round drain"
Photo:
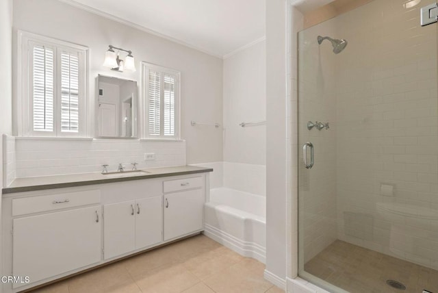
[[[305,271],[352,293],[438,292],[437,270],[340,240],[307,262]],[[389,287],[387,279],[403,283],[407,290]]]

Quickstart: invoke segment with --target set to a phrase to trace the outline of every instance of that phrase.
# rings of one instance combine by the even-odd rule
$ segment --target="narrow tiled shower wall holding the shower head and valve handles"
[[[335,71],[337,56],[331,45],[318,45],[317,36],[333,35],[333,26],[310,28],[298,34],[298,143],[311,142],[315,164],[307,169],[298,162],[300,186],[300,245],[304,262],[320,253],[337,238],[336,230],[336,115]],[[329,122],[329,129],[309,130],[307,123]],[[308,150],[310,152],[310,150]],[[310,159],[310,155],[308,155]],[[303,264],[303,262],[300,262]]]

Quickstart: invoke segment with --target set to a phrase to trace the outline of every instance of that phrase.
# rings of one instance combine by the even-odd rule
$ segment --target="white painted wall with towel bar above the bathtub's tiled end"
[[[224,161],[266,165],[266,41],[224,60]]]

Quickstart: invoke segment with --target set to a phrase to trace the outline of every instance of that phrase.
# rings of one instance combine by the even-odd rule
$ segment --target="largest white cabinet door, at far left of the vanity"
[[[17,218],[13,225],[14,276],[34,283],[101,261],[100,206]]]

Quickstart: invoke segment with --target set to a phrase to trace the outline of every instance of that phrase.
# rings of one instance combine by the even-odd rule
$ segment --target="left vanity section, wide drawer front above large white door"
[[[12,201],[14,212],[33,213],[12,220],[12,274],[28,276],[33,283],[99,263],[101,205],[96,205],[99,198],[99,190],[91,190]],[[65,210],[63,204],[73,207]],[[48,209],[54,211],[46,212]],[[36,214],[39,212],[45,213]],[[23,284],[15,283],[14,288],[19,285]]]

